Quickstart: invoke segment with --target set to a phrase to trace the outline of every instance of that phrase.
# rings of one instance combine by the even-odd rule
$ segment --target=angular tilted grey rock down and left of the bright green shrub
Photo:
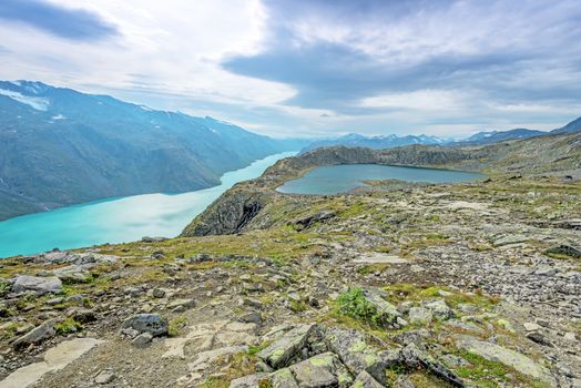
[[[314,328],[314,324],[298,325],[261,350],[257,356],[275,369],[285,367],[297,356]]]

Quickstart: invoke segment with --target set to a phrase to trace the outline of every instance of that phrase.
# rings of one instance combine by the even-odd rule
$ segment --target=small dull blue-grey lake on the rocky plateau
[[[400,180],[407,182],[452,183],[473,181],[486,175],[452,170],[401,167],[379,164],[342,164],[317,167],[303,177],[288,181],[277,188],[292,194],[338,194],[366,186],[367,180]]]

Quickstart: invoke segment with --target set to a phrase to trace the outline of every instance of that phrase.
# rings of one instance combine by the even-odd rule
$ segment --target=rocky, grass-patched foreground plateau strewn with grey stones
[[[190,228],[231,234],[2,261],[0,387],[581,387],[574,177],[254,193]]]

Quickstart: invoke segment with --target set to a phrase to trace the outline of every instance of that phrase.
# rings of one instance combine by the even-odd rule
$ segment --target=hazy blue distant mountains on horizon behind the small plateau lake
[[[314,149],[319,149],[324,146],[335,146],[335,145],[345,145],[345,146],[363,146],[368,149],[391,149],[395,146],[401,145],[411,145],[411,144],[445,144],[447,140],[428,136],[428,135],[407,135],[398,136],[395,134],[381,135],[381,136],[364,136],[357,133],[349,133],[347,135],[336,137],[336,139],[326,139],[319,140],[310,143],[303,151],[310,151]]]

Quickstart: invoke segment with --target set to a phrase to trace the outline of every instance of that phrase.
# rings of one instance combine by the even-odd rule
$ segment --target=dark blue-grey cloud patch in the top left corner
[[[0,19],[24,23],[71,40],[92,41],[118,33],[112,24],[96,13],[41,0],[2,0]]]

